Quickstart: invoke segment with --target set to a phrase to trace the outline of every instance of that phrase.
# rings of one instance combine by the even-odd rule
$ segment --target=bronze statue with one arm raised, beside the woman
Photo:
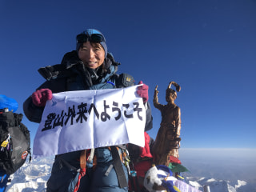
[[[176,82],[170,82],[166,89],[166,105],[158,102],[158,86],[154,89],[154,107],[161,111],[162,122],[158,130],[157,137],[153,146],[153,154],[157,165],[169,166],[170,155],[179,158],[178,149],[180,147],[180,131],[181,131],[181,110],[174,100],[177,93],[170,87],[174,85],[177,92],[181,87]]]

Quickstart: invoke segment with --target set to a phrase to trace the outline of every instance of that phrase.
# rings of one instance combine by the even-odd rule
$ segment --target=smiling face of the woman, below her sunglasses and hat
[[[78,57],[86,67],[96,69],[104,62],[105,50],[99,43],[84,42],[78,50]]]

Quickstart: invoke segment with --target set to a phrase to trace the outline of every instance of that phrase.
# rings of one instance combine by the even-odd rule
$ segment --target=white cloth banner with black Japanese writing
[[[50,156],[125,143],[143,147],[146,110],[137,87],[53,94],[35,135],[33,154]]]

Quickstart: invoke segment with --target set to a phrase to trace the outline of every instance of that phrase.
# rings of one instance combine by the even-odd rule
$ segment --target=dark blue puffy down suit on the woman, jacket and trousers
[[[118,63],[108,54],[102,66],[98,70],[86,69],[82,61],[78,58],[76,51],[69,52],[64,55],[62,63],[55,66],[46,66],[38,71],[44,78],[44,82],[38,89],[48,88],[53,93],[72,90],[102,90],[113,89],[124,86],[132,86],[132,84],[123,83],[123,74],[118,75]],[[125,74],[128,75],[128,74]],[[98,78],[95,78],[98,77]],[[130,76],[130,78],[132,78]],[[133,79],[133,78],[132,78]],[[133,82],[132,82],[133,83]],[[146,126],[145,130],[152,128],[151,108],[148,102],[146,107]],[[40,122],[42,118],[43,107],[34,106],[32,98],[29,97],[23,104],[23,110],[26,117],[32,122]],[[78,191],[127,191],[128,188],[118,188],[118,178],[114,169],[110,171],[108,177],[104,176],[107,168],[112,163],[112,155],[107,148],[99,148],[95,150],[98,159],[97,168],[94,174],[90,175],[91,170],[86,170],[86,176],[81,180],[81,187]],[[74,178],[69,167],[65,167],[60,159],[65,159],[70,166],[79,168],[78,158],[80,151],[74,151],[68,154],[57,155],[52,169],[52,174],[47,182],[47,191],[68,191],[67,184]],[[125,166],[123,169],[128,179]],[[90,181],[92,179],[92,181]],[[86,184],[85,184],[86,183]],[[90,186],[89,186],[90,185]],[[62,188],[60,188],[62,186]],[[90,188],[90,189],[89,189]]]

